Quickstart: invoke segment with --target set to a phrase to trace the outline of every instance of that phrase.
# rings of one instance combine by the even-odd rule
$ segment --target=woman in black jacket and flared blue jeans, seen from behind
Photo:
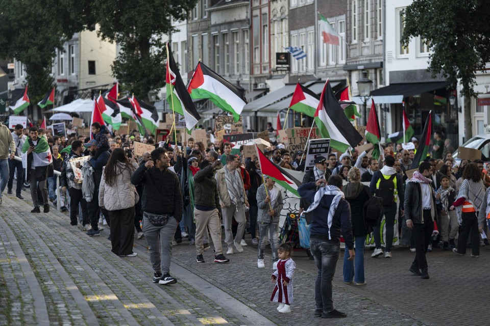
[[[354,167],[349,170],[349,182],[344,186],[344,195],[347,202],[351,206],[351,221],[352,221],[352,233],[355,238],[355,263],[349,261],[349,251],[346,250],[344,256],[344,283],[354,283],[354,277],[356,285],[365,285],[364,279],[364,245],[366,242],[366,235],[371,231],[369,226],[366,225],[364,219],[364,204],[371,197],[369,187],[360,183],[361,172],[358,168]]]

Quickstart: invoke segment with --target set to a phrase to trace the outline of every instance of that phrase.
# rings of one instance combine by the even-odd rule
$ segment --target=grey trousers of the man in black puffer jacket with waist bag
[[[161,271],[163,275],[170,274],[170,260],[172,258],[172,240],[177,229],[177,220],[174,216],[168,218],[165,226],[154,226],[143,213],[143,233],[150,250],[150,262],[153,270]]]

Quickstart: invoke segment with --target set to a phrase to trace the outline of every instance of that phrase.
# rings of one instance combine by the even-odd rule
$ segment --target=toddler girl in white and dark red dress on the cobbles
[[[276,282],[276,287],[272,292],[271,301],[278,302],[277,310],[280,313],[291,312],[289,304],[293,300],[292,295],[292,276],[295,273],[296,264],[291,259],[292,247],[289,243],[283,243],[277,249],[279,262],[277,269],[272,275],[272,281]]]

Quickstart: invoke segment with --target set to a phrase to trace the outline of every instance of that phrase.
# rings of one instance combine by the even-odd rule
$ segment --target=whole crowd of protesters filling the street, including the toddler
[[[282,286],[277,283],[275,293],[292,288],[291,249],[281,247],[279,240],[279,216],[284,205],[281,189],[273,178],[262,174],[257,157],[244,157],[243,148],[234,153],[230,143],[211,142],[211,130],[207,135],[206,144],[190,138],[180,147],[156,143],[135,130],[113,134],[99,123],[91,125],[92,137],[77,133],[53,137],[50,129],[24,130],[17,125],[11,131],[0,125],[0,188],[3,192],[8,187],[8,194],[12,194],[16,172],[16,196],[22,199],[21,190],[28,183],[23,182],[22,164],[14,156],[26,155],[25,180],[30,181],[34,205],[31,212],[40,213],[41,205],[43,212],[49,212],[49,202],[56,207],[57,196],[62,196],[61,208],[69,207],[70,224],[88,236],[99,236],[108,225],[111,250],[121,257],[136,256],[134,237],[144,237],[154,283],[177,282],[170,274],[171,252],[184,239],[194,245],[197,263],[207,260],[211,241],[213,261],[228,263],[229,255],[242,253],[250,237],[249,244],[258,248],[257,267],[265,268],[270,261],[276,270],[273,281],[280,280]],[[429,278],[428,251],[452,249],[464,255],[470,241],[471,257],[479,257],[480,246],[488,244],[482,237],[490,216],[490,177],[480,159],[454,161],[454,148],[442,136],[441,132],[434,133],[431,156],[416,171],[412,169],[418,149],[416,139],[410,146],[384,144],[379,158],[371,157],[374,146],[361,153],[354,149],[315,157],[314,167],[304,174],[299,189],[299,214],[311,220],[310,251],[318,267],[316,316],[346,316],[333,308],[331,293],[340,236],[346,242],[346,284],[366,284],[367,234],[373,232],[375,239],[371,257],[392,257],[395,227],[399,228],[401,244],[415,252],[410,272],[423,279]],[[155,149],[136,157],[134,142],[154,145]],[[53,165],[37,169],[32,153],[42,146],[49,147]],[[305,169],[303,150],[289,152],[284,144],[276,142],[264,154],[283,169]],[[56,189],[54,171],[61,174],[60,189]],[[382,199],[382,209],[375,222],[367,223],[365,207],[373,195]],[[271,245],[270,256],[265,249],[267,242]],[[280,312],[290,312],[292,292],[290,297],[280,294],[279,299],[276,293],[273,300],[281,304]]]

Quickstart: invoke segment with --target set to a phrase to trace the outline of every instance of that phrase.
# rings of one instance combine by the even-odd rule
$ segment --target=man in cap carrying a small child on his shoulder
[[[94,186],[93,193],[92,193],[92,200],[91,201],[87,200],[88,216],[90,219],[90,225],[92,226],[92,229],[87,232],[88,236],[99,236],[101,233],[99,231],[99,213],[101,209],[99,207],[99,186],[101,184],[101,179],[102,179],[102,170],[106,166],[107,161],[111,156],[109,151],[104,151],[99,155],[99,157],[97,157],[97,159],[94,159],[93,155],[95,154],[95,150],[97,149],[97,144],[98,144],[97,141],[94,139],[91,139],[88,143],[83,144],[85,147],[88,148],[88,150],[92,154],[92,157],[90,158],[90,165],[93,168],[93,186]],[[82,187],[85,187],[85,184],[82,184]],[[108,221],[109,214],[107,210],[103,208],[102,213],[104,214],[106,221]]]

